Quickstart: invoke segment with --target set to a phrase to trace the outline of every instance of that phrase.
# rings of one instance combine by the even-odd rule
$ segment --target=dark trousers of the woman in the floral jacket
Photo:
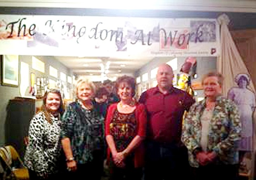
[[[206,165],[192,168],[192,180],[238,180],[239,165]]]

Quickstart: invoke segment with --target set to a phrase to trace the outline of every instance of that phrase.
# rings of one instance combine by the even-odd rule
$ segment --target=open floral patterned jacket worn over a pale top
[[[199,167],[193,151],[200,148],[201,116],[206,108],[206,100],[191,106],[185,118],[182,130],[182,142],[188,148],[189,162],[192,167]],[[208,151],[217,154],[214,163],[237,164],[238,141],[241,123],[237,106],[230,99],[218,96],[209,124]]]

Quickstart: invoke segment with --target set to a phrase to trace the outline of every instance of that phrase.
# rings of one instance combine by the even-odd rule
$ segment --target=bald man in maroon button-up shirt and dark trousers
[[[176,180],[188,174],[188,158],[180,141],[182,116],[189,111],[194,99],[172,86],[173,70],[160,65],[156,75],[157,87],[140,96],[147,108],[145,180]]]

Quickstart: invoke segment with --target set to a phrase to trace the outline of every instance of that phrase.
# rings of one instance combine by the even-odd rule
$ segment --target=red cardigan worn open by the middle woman
[[[105,121],[105,135],[110,135],[109,124],[114,115],[114,111],[117,108],[117,103],[109,106],[107,110],[107,117]],[[135,118],[137,120],[137,135],[142,138],[146,137],[146,127],[147,127],[147,113],[145,106],[143,104],[137,103],[135,108]],[[144,143],[142,142],[135,151],[134,165],[135,167],[142,167],[144,165]],[[110,159],[110,149],[107,149],[108,159]]]

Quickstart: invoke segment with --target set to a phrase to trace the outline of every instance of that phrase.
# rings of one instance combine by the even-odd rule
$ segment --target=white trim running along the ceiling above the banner
[[[254,0],[0,0],[2,7],[56,7],[89,9],[191,10],[220,12],[256,12]]]

